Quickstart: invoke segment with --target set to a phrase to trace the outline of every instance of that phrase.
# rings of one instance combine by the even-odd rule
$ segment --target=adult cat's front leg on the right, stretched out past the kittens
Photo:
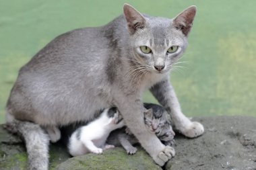
[[[199,122],[191,122],[181,112],[181,106],[168,77],[154,85],[150,91],[158,99],[158,102],[166,108],[177,130],[189,138],[203,134],[203,125]]]

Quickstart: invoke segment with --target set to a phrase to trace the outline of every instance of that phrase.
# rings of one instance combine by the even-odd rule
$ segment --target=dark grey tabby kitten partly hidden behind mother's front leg
[[[175,133],[172,130],[170,122],[166,118],[166,111],[160,105],[156,104],[145,104],[144,107],[148,110],[144,111],[144,123],[146,128],[156,136],[165,145],[172,145],[174,143]],[[135,154],[137,148],[133,144],[139,142],[137,138],[127,128],[121,128],[114,130],[108,136],[107,142],[115,146],[123,146],[128,154]]]

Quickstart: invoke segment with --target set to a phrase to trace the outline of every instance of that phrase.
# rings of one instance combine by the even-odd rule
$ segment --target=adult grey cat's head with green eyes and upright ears
[[[166,73],[187,48],[196,7],[191,6],[174,19],[142,15],[123,7],[135,62],[151,73]],[[135,64],[136,64],[135,63]]]

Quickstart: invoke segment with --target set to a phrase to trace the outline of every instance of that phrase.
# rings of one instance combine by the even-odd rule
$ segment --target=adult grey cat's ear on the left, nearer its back
[[[146,19],[134,7],[125,3],[125,5],[123,5],[123,13],[131,35],[137,30],[145,28]]]

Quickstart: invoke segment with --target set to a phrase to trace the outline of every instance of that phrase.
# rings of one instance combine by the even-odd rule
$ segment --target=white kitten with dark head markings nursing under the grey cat
[[[104,110],[96,120],[75,130],[69,138],[68,149],[73,157],[86,153],[101,154],[104,149],[113,148],[106,138],[111,131],[125,126],[117,108]]]

